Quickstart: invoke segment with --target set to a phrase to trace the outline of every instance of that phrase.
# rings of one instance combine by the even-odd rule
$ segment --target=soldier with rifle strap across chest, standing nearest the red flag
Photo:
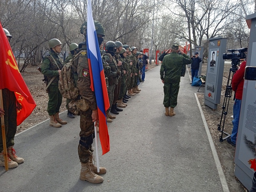
[[[50,116],[50,126],[61,127],[62,124],[67,124],[67,121],[63,121],[59,117],[62,102],[62,95],[59,91],[59,75],[62,68],[62,61],[59,56],[61,52],[60,40],[51,39],[49,47],[50,51],[43,59],[41,72],[47,76],[47,84],[50,84],[47,89],[49,96],[47,111]]]

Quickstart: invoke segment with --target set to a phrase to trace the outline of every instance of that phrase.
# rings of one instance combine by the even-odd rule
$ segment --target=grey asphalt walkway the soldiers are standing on
[[[100,156],[107,168],[103,183],[79,180],[79,117],[64,112],[60,117],[68,124],[61,128],[47,120],[15,137],[25,163],[8,172],[0,167],[0,191],[228,191],[197,104],[198,88],[190,86],[188,73],[181,77],[176,116],[165,116],[159,71],[146,72],[142,91],[108,124],[110,152]]]

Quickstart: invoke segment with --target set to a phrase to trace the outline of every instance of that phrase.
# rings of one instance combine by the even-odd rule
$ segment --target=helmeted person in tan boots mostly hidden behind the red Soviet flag
[[[12,36],[9,31],[5,28],[4,33],[10,42]],[[2,89],[3,94],[3,107],[0,107],[0,117],[4,115],[4,125],[5,125],[5,137],[6,137],[6,147],[7,147],[7,161],[8,167],[14,168],[18,167],[18,164],[23,163],[24,159],[16,156],[16,151],[13,148],[14,145],[14,136],[17,131],[17,108],[20,109],[19,102],[17,102],[14,92],[9,89]],[[0,118],[1,123],[1,118]],[[2,131],[0,132],[0,166],[5,166],[4,163],[4,145]]]

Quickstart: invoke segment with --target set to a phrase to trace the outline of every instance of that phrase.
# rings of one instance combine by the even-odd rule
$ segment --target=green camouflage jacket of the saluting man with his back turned
[[[192,60],[185,53],[178,55],[176,52],[171,52],[163,59],[160,68],[160,77],[166,83],[180,82],[180,72],[183,65],[192,63]]]

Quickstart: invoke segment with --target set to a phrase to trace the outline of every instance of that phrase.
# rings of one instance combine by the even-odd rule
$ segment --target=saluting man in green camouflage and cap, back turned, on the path
[[[177,98],[180,88],[180,71],[183,65],[192,63],[188,55],[180,50],[179,44],[173,44],[171,54],[166,55],[160,68],[160,77],[164,84],[164,107],[166,116],[174,116],[174,108],[177,106]],[[171,107],[169,111],[169,107]]]

